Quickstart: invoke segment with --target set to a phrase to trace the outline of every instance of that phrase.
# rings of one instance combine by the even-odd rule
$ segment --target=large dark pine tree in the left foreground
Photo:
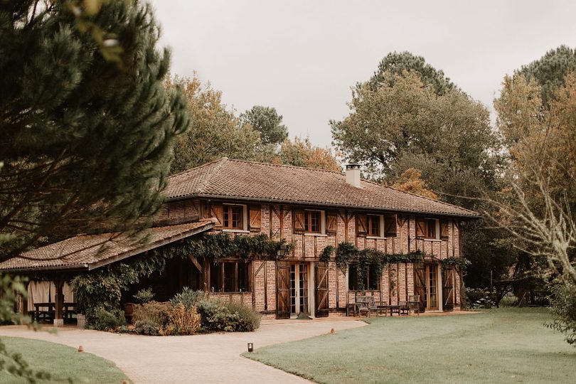
[[[0,257],[142,224],[188,127],[151,7],[81,4],[0,2]]]

